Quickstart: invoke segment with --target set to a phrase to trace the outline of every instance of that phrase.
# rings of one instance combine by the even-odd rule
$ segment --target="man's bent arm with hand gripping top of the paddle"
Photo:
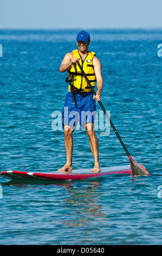
[[[66,72],[70,69],[72,69],[73,64],[79,62],[79,58],[74,58],[73,52],[68,52],[66,56],[64,56],[61,66],[60,66],[60,72]]]

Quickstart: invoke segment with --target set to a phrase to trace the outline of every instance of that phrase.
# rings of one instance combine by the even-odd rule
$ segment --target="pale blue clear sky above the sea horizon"
[[[1,0],[0,29],[161,28],[161,0]]]

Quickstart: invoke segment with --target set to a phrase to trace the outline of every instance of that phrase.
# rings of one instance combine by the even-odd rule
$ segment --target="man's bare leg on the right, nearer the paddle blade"
[[[95,135],[94,124],[86,124],[87,135],[89,137],[90,149],[94,157],[94,168],[92,172],[100,172],[99,163],[99,143]]]

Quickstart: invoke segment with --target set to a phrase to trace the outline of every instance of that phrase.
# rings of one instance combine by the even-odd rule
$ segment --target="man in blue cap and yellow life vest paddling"
[[[68,80],[66,81],[69,82],[69,88],[64,108],[62,110],[64,145],[66,148],[67,162],[58,171],[72,172],[73,131],[75,130],[77,121],[73,126],[73,124],[70,124],[70,120],[72,121],[72,113],[77,111],[80,115],[79,120],[81,126],[86,127],[90,149],[94,156],[94,168],[92,169],[92,172],[100,172],[99,144],[94,131],[94,118],[92,115],[90,115],[90,118],[86,115],[84,119],[81,118],[81,116],[82,113],[85,112],[96,112],[95,100],[100,101],[101,99],[101,91],[103,87],[101,63],[100,60],[96,58],[95,53],[88,50],[88,46],[90,44],[89,33],[86,31],[79,32],[76,37],[76,44],[78,50],[67,53],[60,66],[61,73],[68,71]],[[93,88],[95,86],[95,81],[97,81],[97,92],[95,96],[92,93],[92,89],[88,86],[85,77],[82,75],[82,72],[77,65],[78,62],[87,74],[88,80],[92,84]]]

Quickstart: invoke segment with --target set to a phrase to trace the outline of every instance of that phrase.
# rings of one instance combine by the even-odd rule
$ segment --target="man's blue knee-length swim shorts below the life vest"
[[[75,130],[78,121],[82,129],[85,124],[94,124],[96,105],[93,99],[93,93],[74,93],[75,102],[73,102],[72,93],[68,92],[62,109],[62,127],[68,125]]]

